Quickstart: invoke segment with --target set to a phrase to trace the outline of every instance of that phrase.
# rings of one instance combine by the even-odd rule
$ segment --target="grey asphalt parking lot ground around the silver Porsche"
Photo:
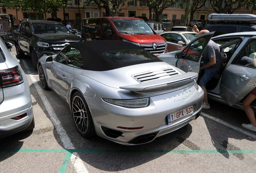
[[[29,81],[35,129],[0,139],[0,173],[256,172],[256,132],[241,126],[249,123],[244,111],[210,100],[211,109],[202,110],[198,119],[151,143],[85,139],[68,106],[41,88],[30,56],[20,64]]]

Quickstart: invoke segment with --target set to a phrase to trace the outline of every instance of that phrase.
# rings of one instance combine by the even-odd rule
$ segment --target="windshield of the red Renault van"
[[[111,18],[114,26],[121,34],[154,34],[152,28],[140,19]]]

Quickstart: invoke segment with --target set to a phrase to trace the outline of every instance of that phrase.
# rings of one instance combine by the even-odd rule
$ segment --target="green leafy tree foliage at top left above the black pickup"
[[[47,18],[47,13],[56,12],[60,7],[66,7],[68,0],[0,0],[8,9],[16,11],[39,11]]]

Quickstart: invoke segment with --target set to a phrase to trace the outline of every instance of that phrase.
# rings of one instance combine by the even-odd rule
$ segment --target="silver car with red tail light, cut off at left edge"
[[[29,83],[10,48],[0,38],[0,138],[35,127]]]

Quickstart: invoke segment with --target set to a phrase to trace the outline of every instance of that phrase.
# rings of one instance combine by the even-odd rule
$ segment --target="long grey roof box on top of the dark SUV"
[[[237,22],[256,22],[254,14],[210,14],[209,21],[237,21]]]

